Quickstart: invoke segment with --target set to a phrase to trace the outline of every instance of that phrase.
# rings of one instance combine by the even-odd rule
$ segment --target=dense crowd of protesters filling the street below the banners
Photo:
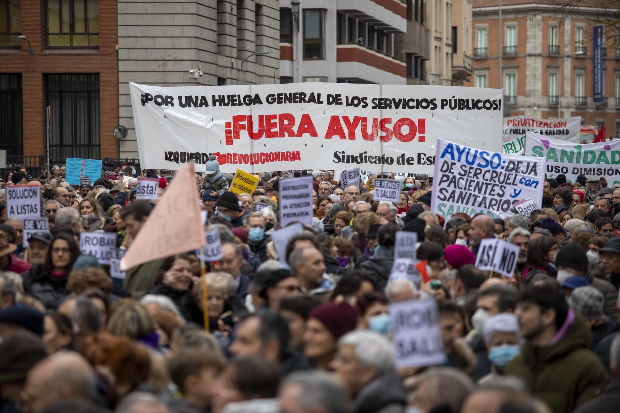
[[[618,410],[620,184],[559,175],[528,216],[442,217],[427,175],[340,186],[334,171],[265,172],[237,196],[211,159],[192,188],[222,258],[201,276],[186,251],[121,279],[80,234],[131,248],[174,171],[106,159],[94,182],[65,173],[0,182],[0,413]],[[136,200],[139,176],[159,181],[158,199]],[[281,257],[278,188],[300,176],[314,217]],[[402,181],[399,202],[373,201],[377,176]],[[11,185],[40,188],[50,231],[27,247],[22,220],[6,219]],[[390,277],[399,231],[417,234],[427,281]],[[476,267],[487,238],[518,246],[510,276]],[[412,300],[438,308],[442,365],[396,367],[389,306]]]

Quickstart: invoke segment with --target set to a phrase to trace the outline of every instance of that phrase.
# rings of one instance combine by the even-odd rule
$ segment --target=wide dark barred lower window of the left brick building
[[[99,74],[48,74],[50,158],[100,159]]]

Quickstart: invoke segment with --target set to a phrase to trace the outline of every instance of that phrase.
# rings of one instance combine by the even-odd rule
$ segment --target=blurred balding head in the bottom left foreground
[[[97,397],[97,376],[76,352],[60,351],[38,362],[30,372],[22,394],[27,409],[42,412],[56,400],[91,401]]]

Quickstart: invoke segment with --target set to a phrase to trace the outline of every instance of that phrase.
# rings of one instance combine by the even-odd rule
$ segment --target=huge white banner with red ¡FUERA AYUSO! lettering
[[[436,139],[502,150],[502,90],[299,83],[130,83],[140,165],[177,170],[208,154],[221,172],[302,168],[432,173]],[[480,131],[485,131],[480,134]]]

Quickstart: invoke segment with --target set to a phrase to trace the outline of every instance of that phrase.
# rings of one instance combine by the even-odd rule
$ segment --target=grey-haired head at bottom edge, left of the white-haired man
[[[291,373],[280,384],[280,409],[286,413],[347,413],[347,394],[321,370]]]

